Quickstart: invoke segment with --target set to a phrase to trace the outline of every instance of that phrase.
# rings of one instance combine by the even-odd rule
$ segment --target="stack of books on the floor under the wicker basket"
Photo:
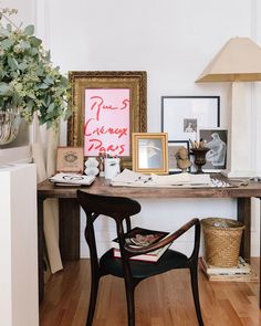
[[[238,265],[233,267],[217,267],[209,265],[205,257],[199,259],[199,265],[209,281],[258,281],[257,274],[251,269],[250,264],[246,263],[242,257],[239,257]]]

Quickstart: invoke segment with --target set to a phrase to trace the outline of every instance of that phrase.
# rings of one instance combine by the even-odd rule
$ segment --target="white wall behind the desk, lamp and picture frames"
[[[232,36],[251,36],[261,44],[261,4],[258,0],[34,0],[36,30],[51,49],[53,62],[63,72],[73,70],[144,70],[148,74],[148,132],[160,132],[160,96],[219,95],[221,127],[229,127],[226,83],[195,84],[213,55]],[[21,6],[19,0],[13,2]],[[30,1],[29,1],[30,2]],[[30,4],[28,2],[28,4]],[[23,2],[24,3],[24,2]],[[32,7],[33,8],[33,4]],[[33,19],[32,19],[33,20]],[[248,87],[251,92],[251,87]],[[261,173],[260,83],[250,103],[252,165]],[[63,129],[65,143],[66,129]],[[175,215],[179,223],[200,214],[198,201],[182,206],[160,206],[160,214]],[[234,215],[236,203],[203,202],[206,215]],[[228,204],[228,206],[227,206]],[[146,213],[157,215],[149,204]],[[223,211],[223,208],[226,210]],[[201,206],[200,206],[201,209]],[[255,209],[257,210],[257,209]],[[171,229],[171,218],[164,228]],[[258,214],[253,220],[252,255],[259,255]],[[102,227],[104,239],[107,225]],[[86,245],[82,243],[83,255]]]

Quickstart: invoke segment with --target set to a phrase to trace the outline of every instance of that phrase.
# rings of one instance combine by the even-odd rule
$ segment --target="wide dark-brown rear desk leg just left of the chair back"
[[[80,206],[74,198],[59,199],[59,244],[63,261],[80,260]]]

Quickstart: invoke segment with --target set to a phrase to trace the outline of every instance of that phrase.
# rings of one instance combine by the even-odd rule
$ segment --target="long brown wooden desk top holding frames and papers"
[[[215,178],[230,182],[221,175]],[[261,183],[249,182],[248,186],[231,188],[135,188],[135,187],[113,187],[104,178],[97,177],[90,187],[58,187],[45,180],[38,185],[38,198],[76,198],[76,190],[105,196],[122,196],[130,198],[261,198]]]

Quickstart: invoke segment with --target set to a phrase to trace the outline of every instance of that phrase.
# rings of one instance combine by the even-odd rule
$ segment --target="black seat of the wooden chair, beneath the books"
[[[146,278],[173,269],[184,269],[187,262],[188,257],[185,254],[168,249],[157,262],[130,261],[129,265],[133,277]],[[100,264],[105,274],[124,277],[122,259],[113,256],[113,249],[101,257]]]

